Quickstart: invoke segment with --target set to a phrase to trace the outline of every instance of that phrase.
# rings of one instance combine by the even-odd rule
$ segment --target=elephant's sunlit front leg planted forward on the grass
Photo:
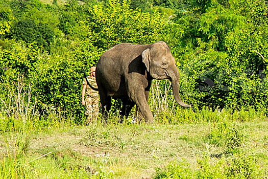
[[[153,123],[154,117],[152,111],[148,105],[147,96],[145,95],[145,91],[142,88],[134,88],[131,91],[131,98],[139,107],[140,113],[144,118],[145,122]]]

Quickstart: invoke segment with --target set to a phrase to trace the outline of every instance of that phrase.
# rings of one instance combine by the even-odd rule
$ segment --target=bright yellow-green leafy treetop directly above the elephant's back
[[[128,1],[112,0],[107,6],[89,9],[86,23],[93,46],[107,50],[120,42],[146,44],[160,40],[164,26],[161,14],[132,10]]]

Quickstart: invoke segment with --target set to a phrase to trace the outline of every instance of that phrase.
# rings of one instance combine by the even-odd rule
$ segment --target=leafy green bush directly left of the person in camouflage
[[[47,69],[40,66],[32,79],[33,93],[38,94],[39,112],[46,116],[46,109],[52,108],[61,117],[82,122],[82,62],[61,57],[54,57],[54,60]]]

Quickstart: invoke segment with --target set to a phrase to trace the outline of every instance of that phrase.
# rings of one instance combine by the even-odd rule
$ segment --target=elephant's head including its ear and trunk
[[[170,53],[167,44],[163,41],[153,43],[151,48],[142,52],[142,61],[153,79],[169,79],[172,81],[175,100],[183,107],[191,107],[181,101],[180,75],[175,58]]]

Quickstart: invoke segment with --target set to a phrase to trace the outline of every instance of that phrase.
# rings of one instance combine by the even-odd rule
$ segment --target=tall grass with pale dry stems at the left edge
[[[43,130],[65,124],[60,111],[58,112],[53,106],[45,105],[46,115],[40,116],[37,110],[38,96],[32,93],[31,83],[27,83],[23,76],[19,76],[15,81],[2,82],[0,132]]]

